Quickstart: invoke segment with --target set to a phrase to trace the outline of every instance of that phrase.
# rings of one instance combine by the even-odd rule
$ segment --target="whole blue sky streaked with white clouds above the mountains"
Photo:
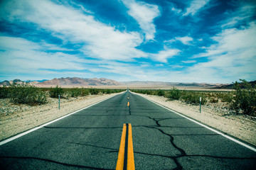
[[[0,80],[256,79],[255,1],[0,1]]]

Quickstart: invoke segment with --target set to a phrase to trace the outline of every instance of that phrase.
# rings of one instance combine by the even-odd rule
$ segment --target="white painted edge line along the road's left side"
[[[124,92],[125,92],[125,91],[124,91]],[[124,93],[124,92],[123,92],[123,93]],[[116,94],[116,95],[114,95],[114,96],[117,96],[117,95],[118,95],[118,94]],[[112,98],[112,97],[114,97],[114,96],[111,96],[110,98]],[[110,98],[105,98],[105,99],[103,99],[102,101],[106,101],[107,99],[110,99]],[[102,101],[98,101],[97,103],[100,103],[100,102],[102,102]],[[91,106],[94,106],[94,105],[96,105],[97,103],[93,103],[93,104],[91,104],[90,106],[86,106],[85,108],[90,108]],[[35,131],[35,130],[38,130],[38,129],[40,129],[40,128],[43,128],[43,127],[46,126],[46,125],[50,125],[50,123],[55,123],[55,122],[57,122],[57,121],[60,120],[60,119],[66,118],[66,117],[68,117],[68,116],[70,116],[70,115],[73,115],[73,114],[79,112],[79,111],[82,111],[82,110],[84,110],[85,108],[80,108],[78,111],[74,111],[73,113],[69,113],[68,115],[64,115],[63,117],[57,118],[57,119],[55,119],[55,120],[51,120],[50,122],[45,123],[45,124],[43,124],[43,125],[39,125],[38,127],[32,128],[31,130],[27,130],[27,131],[25,131],[25,132],[21,132],[20,134],[15,135],[15,136],[13,136],[13,137],[10,137],[10,138],[8,138],[7,140],[3,140],[3,141],[0,142],[0,146],[6,144],[6,143],[8,143],[8,142],[11,142],[12,140],[16,140],[18,137],[22,137],[23,135],[27,135],[28,133],[31,133],[31,132],[33,132],[33,131]]]

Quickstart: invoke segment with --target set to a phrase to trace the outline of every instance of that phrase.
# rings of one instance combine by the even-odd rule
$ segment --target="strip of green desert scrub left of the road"
[[[55,86],[55,88],[38,88],[29,84],[12,84],[11,86],[0,87],[0,98],[10,98],[13,103],[41,105],[47,103],[48,96],[58,98],[58,95],[60,95],[62,98],[70,98],[97,94],[113,94],[124,90],[92,88],[63,89],[60,86]]]

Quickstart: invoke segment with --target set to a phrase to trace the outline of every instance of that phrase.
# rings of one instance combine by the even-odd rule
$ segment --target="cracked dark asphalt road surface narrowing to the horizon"
[[[1,145],[0,169],[115,169],[124,123],[135,169],[256,167],[255,151],[127,91]]]

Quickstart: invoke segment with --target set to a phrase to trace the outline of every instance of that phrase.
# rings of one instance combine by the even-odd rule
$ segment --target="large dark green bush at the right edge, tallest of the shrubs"
[[[256,90],[252,89],[252,85],[244,79],[240,81],[240,83],[235,81],[233,85],[235,97],[232,107],[237,113],[241,110],[246,115],[256,115]]]

